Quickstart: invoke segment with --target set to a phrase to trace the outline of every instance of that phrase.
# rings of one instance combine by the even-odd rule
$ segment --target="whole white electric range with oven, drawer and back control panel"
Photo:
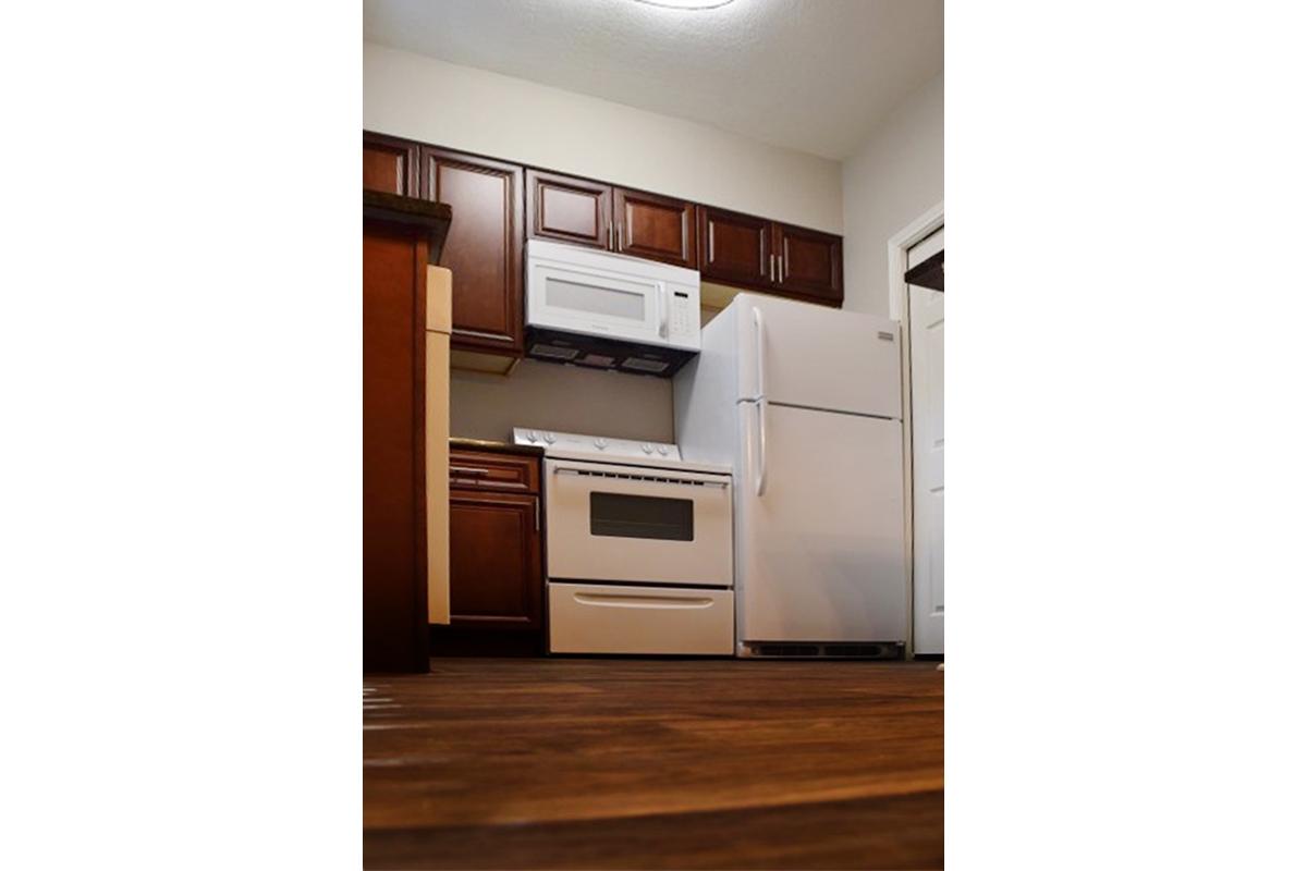
[[[545,449],[552,653],[735,652],[729,466],[674,444],[514,430]]]

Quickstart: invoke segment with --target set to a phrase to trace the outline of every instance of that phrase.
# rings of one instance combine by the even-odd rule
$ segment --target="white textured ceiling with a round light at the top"
[[[840,159],[944,69],[944,0],[365,0],[363,37]]]

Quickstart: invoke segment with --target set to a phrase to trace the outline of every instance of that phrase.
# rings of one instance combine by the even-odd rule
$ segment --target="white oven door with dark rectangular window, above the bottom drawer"
[[[545,461],[549,580],[732,585],[731,478]]]

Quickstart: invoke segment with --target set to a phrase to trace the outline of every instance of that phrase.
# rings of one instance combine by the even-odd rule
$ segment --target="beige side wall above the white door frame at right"
[[[889,316],[894,234],[944,200],[944,73],[924,85],[844,161],[844,307]]]

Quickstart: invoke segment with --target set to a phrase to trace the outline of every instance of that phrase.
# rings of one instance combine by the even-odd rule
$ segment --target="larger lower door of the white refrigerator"
[[[902,424],[738,407],[740,640],[904,641]]]

